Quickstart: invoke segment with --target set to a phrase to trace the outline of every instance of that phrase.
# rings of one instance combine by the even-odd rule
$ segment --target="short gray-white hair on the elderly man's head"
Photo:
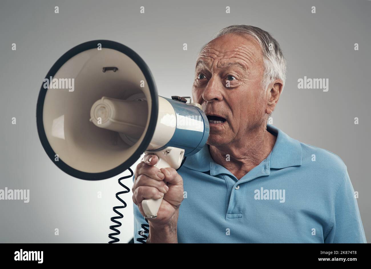
[[[213,37],[217,38],[226,34],[247,35],[255,38],[259,42],[263,51],[264,76],[262,87],[267,90],[267,87],[273,80],[279,78],[285,85],[286,80],[286,60],[283,56],[279,43],[270,33],[258,27],[250,25],[231,25],[221,29]],[[207,43],[209,44],[209,43]],[[205,44],[200,52],[207,46]]]

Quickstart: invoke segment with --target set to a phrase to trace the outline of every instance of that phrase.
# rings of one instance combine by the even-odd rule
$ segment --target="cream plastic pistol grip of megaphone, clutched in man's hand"
[[[171,167],[178,169],[184,157],[184,149],[167,147],[161,151],[145,151],[145,154],[155,154],[158,156],[158,162],[154,166],[157,168]],[[162,202],[160,199],[144,199],[142,201],[142,208],[145,213],[145,218],[156,218],[158,209]]]

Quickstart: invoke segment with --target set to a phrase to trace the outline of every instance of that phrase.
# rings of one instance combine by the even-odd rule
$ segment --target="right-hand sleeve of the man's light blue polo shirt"
[[[347,170],[335,194],[334,215],[334,224],[325,243],[367,243],[357,198]]]

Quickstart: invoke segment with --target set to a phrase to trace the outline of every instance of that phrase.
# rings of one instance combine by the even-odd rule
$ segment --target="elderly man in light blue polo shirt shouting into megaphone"
[[[134,242],[366,242],[344,162],[267,125],[285,75],[278,42],[257,27],[226,27],[202,48],[192,95],[209,139],[178,171],[155,155],[138,164]],[[148,234],[141,201],[162,196]]]

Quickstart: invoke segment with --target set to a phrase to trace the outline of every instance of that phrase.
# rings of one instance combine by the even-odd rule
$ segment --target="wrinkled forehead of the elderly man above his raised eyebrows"
[[[197,60],[227,60],[240,58],[247,63],[263,61],[263,52],[259,42],[247,35],[226,34],[211,40],[201,50]]]

